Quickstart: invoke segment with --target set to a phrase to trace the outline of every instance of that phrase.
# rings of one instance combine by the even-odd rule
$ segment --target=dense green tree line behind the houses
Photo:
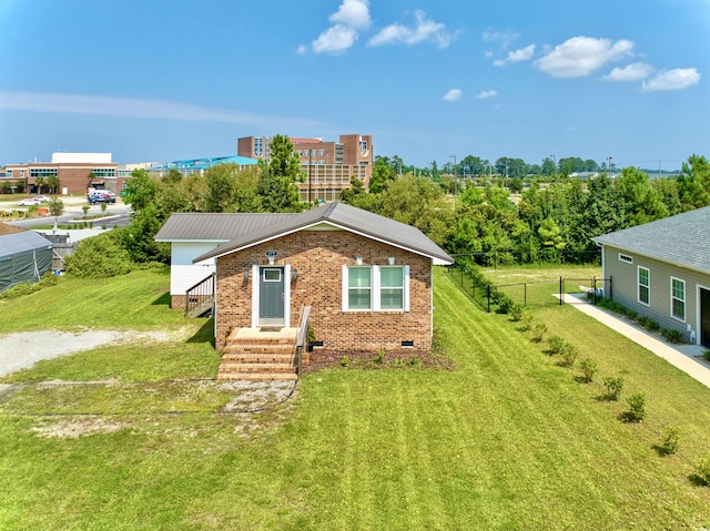
[[[298,156],[287,136],[272,140],[271,160],[251,167],[219,164],[204,175],[183,176],[172,170],[161,177],[136,170],[124,202],[132,207],[129,226],[110,237],[135,263],[168,262],[170,248],[154,235],[174,212],[300,212],[304,181]],[[650,180],[626,167],[581,180],[552,174],[548,178],[480,175],[428,178],[408,171],[399,157],[377,157],[366,188],[353,178],[341,200],[413,225],[449,254],[486,263],[558,259],[562,253],[596,247],[591,237],[668,215],[710,205],[710,165],[692,155],[680,175]]]

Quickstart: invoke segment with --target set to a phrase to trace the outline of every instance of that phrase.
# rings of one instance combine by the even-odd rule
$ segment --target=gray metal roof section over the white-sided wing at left
[[[229,242],[297,214],[175,213],[155,235],[156,242]]]

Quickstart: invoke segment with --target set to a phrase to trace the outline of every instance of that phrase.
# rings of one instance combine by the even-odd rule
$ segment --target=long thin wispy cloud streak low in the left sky
[[[301,119],[268,116],[192,105],[169,100],[143,100],[122,96],[94,96],[83,94],[55,94],[49,92],[0,91],[0,109],[59,114],[90,114],[129,119],[161,119],[182,122],[220,122],[274,126],[323,126]]]

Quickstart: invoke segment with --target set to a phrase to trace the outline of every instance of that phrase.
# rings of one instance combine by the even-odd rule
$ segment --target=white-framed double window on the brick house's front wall
[[[343,312],[409,312],[409,266],[343,266]]]

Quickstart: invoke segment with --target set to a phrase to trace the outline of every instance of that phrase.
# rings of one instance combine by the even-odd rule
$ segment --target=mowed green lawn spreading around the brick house
[[[186,326],[161,302],[168,277],[162,284],[159,278],[142,272],[109,282],[104,286],[116,286],[116,308],[104,306],[113,318],[97,317],[101,325],[94,326]],[[2,329],[41,328],[40,300],[51,306],[61,290],[79,305],[90,298],[84,288],[101,292],[93,284],[77,280],[73,289],[60,284],[16,299],[21,314],[13,309],[14,325],[3,319]],[[85,406],[85,396],[82,402],[81,396],[62,400],[60,390],[18,392],[0,402],[0,529],[710,525],[710,488],[692,481],[694,463],[710,452],[710,389],[570,306],[536,310],[535,321],[545,320],[548,334],[598,361],[597,380],[623,375],[622,399],[599,400],[598,381],[579,384],[578,371],[542,354],[545,344],[531,343],[507,316],[477,309],[438,268],[435,286],[437,337],[454,371],[328,369],[304,378],[294,399],[235,416],[211,413],[220,399],[205,396],[203,410],[191,415],[34,417],[22,408],[49,404],[67,413],[74,404]],[[83,306],[88,315],[91,307]],[[79,317],[49,315],[57,320],[48,318],[48,326],[82,325]],[[156,350],[164,348],[148,345],[145,356]],[[193,372],[207,374],[210,354],[193,354],[202,358]],[[110,356],[83,355],[71,370],[75,356],[53,360],[34,379],[140,378],[136,355],[101,369]],[[149,372],[160,376],[158,369]],[[32,371],[23,379],[32,380]],[[148,405],[156,402],[155,394],[172,399],[158,385],[151,389]],[[621,422],[623,397],[637,390],[647,394],[648,419]],[[126,400],[140,406],[144,391],[126,384],[115,397],[85,394],[98,394],[94,405],[110,413]],[[67,422],[93,423],[98,432],[42,437],[48,427]],[[653,445],[669,425],[681,430],[680,449],[661,458]],[[101,432],[102,426],[111,429]]]

